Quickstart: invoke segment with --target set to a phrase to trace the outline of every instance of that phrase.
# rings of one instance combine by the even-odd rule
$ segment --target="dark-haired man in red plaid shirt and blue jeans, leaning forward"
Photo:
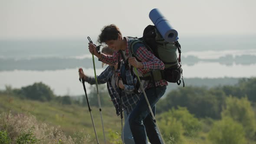
[[[98,42],[105,43],[110,49],[114,49],[115,52],[113,55],[106,56],[102,53],[98,54],[96,47],[91,43],[89,43],[89,51],[93,55],[97,56],[102,62],[112,65],[117,64],[118,61],[122,59],[121,54],[123,53],[128,57],[128,63],[133,67],[138,68],[138,72],[142,75],[150,72],[151,70],[164,69],[164,63],[155,57],[153,53],[148,51],[143,44],[139,44],[139,48],[135,53],[139,62],[135,57],[129,57],[131,49],[129,47],[130,41],[131,39],[128,37],[122,37],[121,31],[118,27],[112,24],[105,26],[102,29],[102,32],[98,37]],[[165,80],[159,80],[154,83],[147,83],[144,87],[151,108],[153,108],[156,102],[164,95],[166,85],[168,84]],[[147,135],[152,144],[161,144],[161,136],[150,114],[150,110],[143,93],[140,95],[138,104],[131,111],[129,124],[136,144],[147,144]],[[147,131],[147,135],[145,130]]]

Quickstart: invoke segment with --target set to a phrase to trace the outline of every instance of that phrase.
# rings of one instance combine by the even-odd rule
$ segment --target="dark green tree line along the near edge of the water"
[[[102,106],[112,106],[105,85],[98,85]],[[88,94],[91,106],[98,106],[98,97],[95,85],[89,87]],[[69,95],[57,96],[53,90],[42,82],[36,82],[22,88],[6,89],[1,93],[16,95],[20,98],[27,98],[36,101],[56,101],[63,105],[77,104],[87,105],[85,95],[70,97]],[[186,107],[187,110],[197,118],[220,119],[221,111],[225,107],[225,99],[229,96],[236,98],[247,98],[255,106],[256,103],[256,78],[240,79],[236,85],[223,85],[212,88],[204,86],[186,85],[168,92],[166,97],[161,98],[157,103],[157,112],[162,113],[172,108]]]

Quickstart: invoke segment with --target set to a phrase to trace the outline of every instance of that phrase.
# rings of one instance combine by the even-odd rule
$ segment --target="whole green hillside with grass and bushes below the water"
[[[187,85],[167,92],[158,101],[156,115],[164,141],[166,144],[255,144],[255,84],[255,78],[239,79],[235,85],[211,88]],[[95,87],[91,91],[92,115],[103,143]],[[107,144],[120,144],[120,118],[115,115],[112,102],[104,96],[108,95],[105,88],[100,87],[100,95]],[[14,143],[28,138],[33,144],[96,142],[85,101],[68,95],[56,96],[41,82],[0,91],[0,121],[0,144],[9,144],[8,137]],[[45,142],[46,139],[51,141]]]

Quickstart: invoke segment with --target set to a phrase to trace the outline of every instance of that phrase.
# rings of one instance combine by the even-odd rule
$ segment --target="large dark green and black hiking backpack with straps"
[[[158,59],[164,62],[164,70],[153,70],[141,77],[142,80],[161,80],[165,79],[167,82],[181,84],[181,79],[184,80],[181,69],[181,45],[178,41],[166,42],[157,28],[148,25],[143,32],[141,38],[129,37],[129,48],[132,56],[137,59],[136,51],[144,44],[146,48],[151,51]],[[176,51],[178,50],[179,56],[177,57]],[[138,60],[138,59],[137,59]]]

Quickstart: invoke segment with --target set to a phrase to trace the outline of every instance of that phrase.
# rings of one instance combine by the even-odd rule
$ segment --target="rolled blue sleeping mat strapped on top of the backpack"
[[[164,40],[167,42],[175,42],[178,40],[178,32],[172,28],[169,20],[164,17],[159,9],[153,9],[149,13],[150,20],[158,29]]]

